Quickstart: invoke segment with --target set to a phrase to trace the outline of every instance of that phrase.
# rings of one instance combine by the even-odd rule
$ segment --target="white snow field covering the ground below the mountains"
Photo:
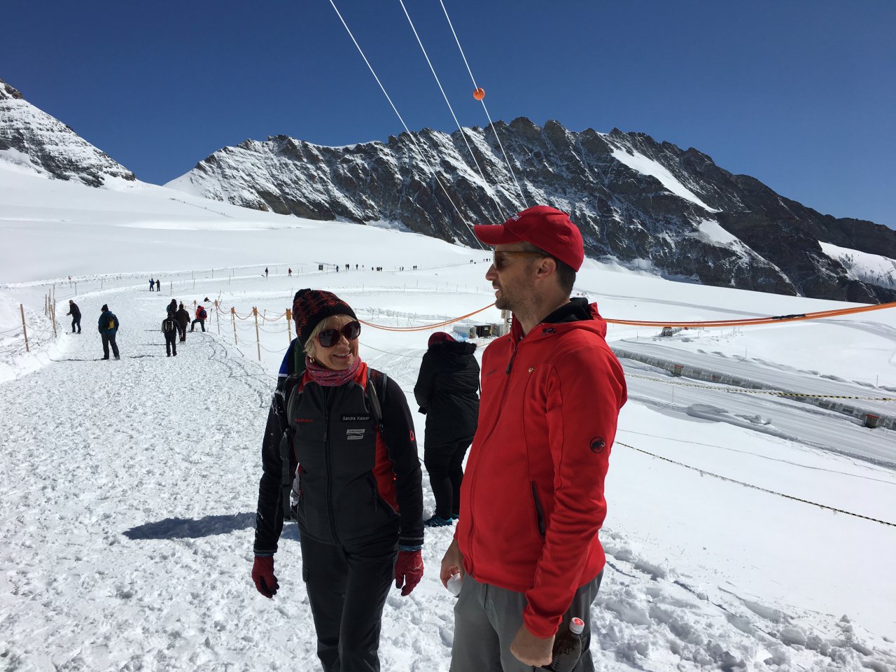
[[[172,201],[166,190],[139,183],[89,189],[20,177],[0,179],[7,282],[0,286],[7,339],[0,344],[12,349],[0,355],[8,367],[0,383],[4,668],[316,669],[295,527],[276,557],[277,598],[263,599],[249,579],[265,409],[289,342],[286,323],[273,317],[300,287],[332,289],[363,319],[384,326],[467,314],[494,300],[483,279],[486,255],[183,194]],[[323,271],[318,263],[327,263]],[[335,263],[351,270],[343,265],[337,273]],[[374,265],[384,270],[371,271]],[[163,280],[160,294],[146,288],[150,273]],[[61,333],[75,282],[81,335]],[[56,339],[43,314],[54,284]],[[603,314],[625,319],[838,306],[672,283],[593,262],[577,289]],[[241,317],[257,306],[270,321],[261,323],[256,343],[253,320],[214,313],[209,332],[188,334],[177,358],[166,358],[159,324],[171,297],[190,306],[218,299]],[[20,302],[42,339],[31,366],[20,366],[27,358],[14,345]],[[102,303],[122,323],[120,362],[97,361]],[[499,316],[488,308],[473,319]],[[365,327],[361,355],[409,394],[428,333]],[[671,343],[673,353],[702,349],[720,367],[747,350],[737,362],[761,357],[757,371],[779,366],[806,385],[839,375],[883,395],[896,386],[894,334],[896,315],[881,311],[798,328],[697,332],[686,341],[612,327],[609,340]],[[896,472],[802,437],[800,423],[813,424],[806,405],[772,414],[768,400],[735,407],[738,395],[711,390],[683,401],[685,387],[639,388],[635,375],[659,374],[625,366],[633,398],[620,417],[607,478],[601,538],[608,565],[593,607],[597,667],[896,669],[896,527],[879,522],[896,522]],[[735,425],[689,412],[700,404],[755,418]],[[788,438],[767,431],[784,422],[779,413],[797,426]],[[416,421],[422,427],[425,420]],[[832,442],[892,436],[852,418],[826,422]],[[896,441],[892,446],[896,452]],[[424,487],[431,512],[426,477]],[[436,572],[451,533],[427,531],[423,582],[409,598],[393,591],[387,601],[384,670],[448,669],[453,599]]]

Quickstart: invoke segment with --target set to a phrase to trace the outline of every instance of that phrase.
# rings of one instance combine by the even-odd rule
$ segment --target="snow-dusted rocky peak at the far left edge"
[[[22,98],[0,80],[0,158],[29,172],[85,185],[103,185],[108,177],[134,180],[134,173],[105,151]]]

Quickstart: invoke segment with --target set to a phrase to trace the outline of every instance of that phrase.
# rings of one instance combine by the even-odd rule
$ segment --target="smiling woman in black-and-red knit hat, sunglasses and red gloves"
[[[358,357],[361,325],[348,304],[299,289],[293,315],[298,337],[283,358],[264,431],[252,579],[267,598],[280,588],[273,555],[296,475],[317,656],[326,672],[372,672],[380,669],[392,579],[409,595],[423,576],[414,423],[398,383]]]

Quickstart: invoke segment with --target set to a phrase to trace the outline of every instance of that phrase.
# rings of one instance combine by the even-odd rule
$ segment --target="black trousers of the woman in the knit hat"
[[[383,605],[395,581],[398,531],[363,545],[299,534],[323,672],[378,672]]]

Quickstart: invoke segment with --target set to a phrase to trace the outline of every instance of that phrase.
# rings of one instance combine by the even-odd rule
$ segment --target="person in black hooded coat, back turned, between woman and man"
[[[479,416],[479,365],[475,343],[459,343],[451,334],[429,337],[414,397],[426,414],[423,462],[435,495],[435,513],[427,527],[451,525],[461,506],[463,458],[476,434]]]

